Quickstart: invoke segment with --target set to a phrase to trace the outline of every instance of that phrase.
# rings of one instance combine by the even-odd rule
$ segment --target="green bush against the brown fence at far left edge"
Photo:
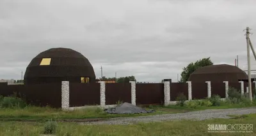
[[[26,102],[24,100],[20,98],[15,98],[15,97],[3,97],[0,103],[1,103],[0,107],[6,107],[6,108],[26,107]]]

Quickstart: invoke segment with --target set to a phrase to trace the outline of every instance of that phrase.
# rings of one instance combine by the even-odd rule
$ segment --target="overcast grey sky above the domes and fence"
[[[254,0],[0,0],[0,79],[20,79],[33,57],[56,47],[82,53],[97,78],[102,65],[107,77],[177,81],[190,62],[211,57],[234,65],[236,55],[246,69],[243,29],[256,32],[255,6]]]

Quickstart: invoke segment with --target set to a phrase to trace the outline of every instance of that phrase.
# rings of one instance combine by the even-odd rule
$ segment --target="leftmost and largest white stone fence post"
[[[61,82],[61,108],[69,108],[69,81]]]

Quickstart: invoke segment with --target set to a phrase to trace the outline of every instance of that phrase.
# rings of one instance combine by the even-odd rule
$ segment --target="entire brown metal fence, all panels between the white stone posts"
[[[100,105],[100,83],[70,83],[70,107],[84,105]],[[230,87],[241,89],[240,83],[228,83]],[[244,82],[244,92],[248,83]],[[9,96],[14,92],[25,98],[29,104],[51,107],[61,107],[61,83],[44,83],[35,85],[7,85],[0,83],[0,95]],[[253,96],[255,84],[252,84]],[[175,101],[179,93],[184,93],[188,99],[188,83],[170,83],[170,99]],[[211,83],[212,95],[225,98],[225,83]],[[107,83],[106,105],[118,101],[131,103],[131,83]],[[207,83],[192,83],[192,99],[207,97]],[[136,104],[163,104],[163,83],[137,83]]]

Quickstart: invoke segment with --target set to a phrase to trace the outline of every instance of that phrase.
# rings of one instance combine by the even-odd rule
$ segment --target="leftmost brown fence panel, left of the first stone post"
[[[31,105],[61,107],[61,83],[35,85],[1,85],[0,95],[17,94]]]

